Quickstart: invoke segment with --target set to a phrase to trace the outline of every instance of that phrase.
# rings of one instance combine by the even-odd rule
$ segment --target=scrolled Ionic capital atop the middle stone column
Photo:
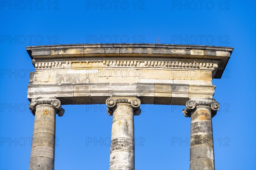
[[[106,105],[108,107],[108,115],[113,115],[113,110],[117,105],[127,105],[132,107],[134,110],[134,115],[140,115],[140,99],[138,98],[121,98],[121,97],[110,97],[106,100]]]

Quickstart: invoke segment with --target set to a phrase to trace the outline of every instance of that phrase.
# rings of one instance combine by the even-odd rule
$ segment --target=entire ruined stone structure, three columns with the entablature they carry
[[[35,66],[28,85],[35,115],[29,169],[54,169],[55,115],[64,114],[65,104],[107,105],[113,116],[110,170],[134,170],[134,115],[140,115],[140,104],[186,105],[190,169],[214,169],[212,117],[219,103],[212,99],[212,79],[221,78],[233,48],[76,44],[26,50]]]

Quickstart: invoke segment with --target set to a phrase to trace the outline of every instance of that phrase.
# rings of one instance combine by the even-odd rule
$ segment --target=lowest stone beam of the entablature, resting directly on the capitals
[[[134,96],[143,104],[185,105],[190,96],[212,98],[215,86],[169,83],[29,85],[28,98],[55,97],[62,104],[105,104],[111,96]],[[172,100],[172,102],[170,102]]]

